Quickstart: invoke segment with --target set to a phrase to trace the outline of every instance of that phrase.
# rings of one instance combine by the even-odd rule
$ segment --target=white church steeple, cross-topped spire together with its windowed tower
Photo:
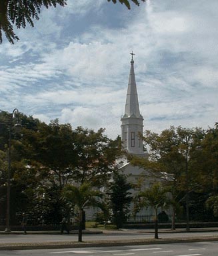
[[[139,134],[143,134],[143,116],[139,111],[139,100],[135,82],[133,52],[130,53],[131,67],[129,72],[129,84],[127,89],[127,98],[125,104],[125,114],[121,118],[121,139],[123,148],[130,154],[145,155],[143,152],[143,144]]]

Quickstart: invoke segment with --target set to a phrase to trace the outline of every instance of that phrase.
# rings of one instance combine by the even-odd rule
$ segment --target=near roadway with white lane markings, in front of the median
[[[129,245],[117,247],[1,251],[1,256],[217,256],[218,242]]]

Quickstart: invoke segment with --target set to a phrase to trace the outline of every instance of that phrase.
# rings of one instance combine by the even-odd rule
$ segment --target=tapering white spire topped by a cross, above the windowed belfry
[[[139,112],[139,100],[137,95],[137,88],[135,83],[135,72],[134,72],[134,60],[133,60],[133,51],[130,53],[132,55],[132,59],[130,61],[131,67],[129,72],[129,84],[127,90],[127,99],[125,104],[125,117],[135,117],[135,118],[143,118]]]

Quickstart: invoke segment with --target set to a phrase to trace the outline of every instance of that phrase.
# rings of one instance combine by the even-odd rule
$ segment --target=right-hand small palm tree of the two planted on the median
[[[144,207],[151,207],[155,214],[155,239],[158,239],[158,217],[157,211],[159,208],[166,208],[170,201],[167,197],[167,190],[161,186],[159,182],[153,184],[151,188],[139,191],[135,196],[135,213]]]

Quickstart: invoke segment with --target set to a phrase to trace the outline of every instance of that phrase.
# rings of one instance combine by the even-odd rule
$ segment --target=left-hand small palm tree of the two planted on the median
[[[66,199],[71,206],[77,208],[79,212],[79,242],[82,241],[83,211],[85,207],[101,207],[101,202],[98,199],[101,199],[102,196],[102,193],[99,190],[94,190],[91,183],[88,182],[84,182],[80,186],[67,184],[67,186],[63,188],[64,199]]]

